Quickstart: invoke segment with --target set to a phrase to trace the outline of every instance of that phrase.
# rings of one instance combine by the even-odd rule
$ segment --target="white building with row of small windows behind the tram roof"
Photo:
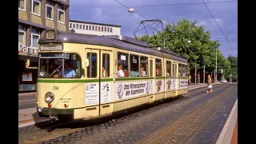
[[[121,27],[117,25],[109,25],[95,22],[82,22],[70,20],[69,30],[73,30],[78,34],[93,34],[93,35],[120,35]]]

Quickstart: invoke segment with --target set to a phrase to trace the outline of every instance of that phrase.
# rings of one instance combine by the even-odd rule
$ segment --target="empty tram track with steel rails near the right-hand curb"
[[[191,111],[190,114],[185,115],[178,119],[178,121],[166,126],[166,128],[158,130],[156,133],[145,138],[141,143],[192,143],[193,139],[202,130],[202,128],[206,126],[214,114],[222,108],[225,103],[223,100],[230,99],[233,94],[230,94],[230,91],[232,92],[233,89],[234,87],[231,86],[229,90],[224,90],[221,94],[211,98],[209,102],[206,102],[197,109]],[[202,117],[198,117],[199,115]],[[194,118],[198,118],[200,120]],[[193,123],[193,120],[197,121]]]

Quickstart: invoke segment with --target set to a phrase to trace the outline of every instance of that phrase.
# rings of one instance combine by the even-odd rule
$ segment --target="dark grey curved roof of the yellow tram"
[[[68,42],[68,43],[81,43],[87,45],[98,46],[110,46],[122,50],[130,50],[142,54],[150,54],[158,57],[170,58],[179,62],[186,62],[186,59],[181,58],[178,54],[166,50],[163,48],[150,48],[146,46],[146,42],[138,41],[134,38],[126,36],[97,36],[90,34],[77,34],[74,32],[60,32],[55,30],[56,38],[54,40],[46,40],[46,30],[42,32],[42,35],[38,43],[56,43],[56,42]],[[141,46],[140,46],[141,45]],[[172,53],[170,53],[172,52]]]

